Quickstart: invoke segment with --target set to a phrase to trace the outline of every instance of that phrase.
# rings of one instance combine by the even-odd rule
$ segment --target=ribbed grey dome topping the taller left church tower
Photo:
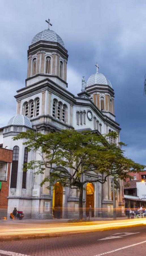
[[[61,37],[58,36],[58,34],[56,34],[53,30],[50,30],[50,29],[45,29],[45,30],[39,32],[38,34],[36,34],[31,42],[31,44],[35,44],[36,42],[39,42],[40,40],[57,42],[65,48],[64,42],[61,39]]]

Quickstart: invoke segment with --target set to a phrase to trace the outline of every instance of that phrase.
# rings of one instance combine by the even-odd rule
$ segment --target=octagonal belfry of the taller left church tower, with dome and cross
[[[50,19],[46,20],[48,29],[33,37],[29,46],[26,86],[39,82],[46,77],[67,88],[68,54],[64,42],[56,32],[50,30]]]

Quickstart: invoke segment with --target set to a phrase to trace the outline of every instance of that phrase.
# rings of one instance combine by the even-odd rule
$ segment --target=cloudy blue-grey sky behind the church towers
[[[47,28],[48,17],[68,50],[68,90],[77,94],[82,75],[87,80],[97,61],[115,90],[126,154],[146,164],[146,0],[1,0],[0,127],[15,114],[13,96],[25,86],[28,46]]]

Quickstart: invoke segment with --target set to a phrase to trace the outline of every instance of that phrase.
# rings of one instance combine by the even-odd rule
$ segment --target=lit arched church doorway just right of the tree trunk
[[[94,217],[94,186],[92,183],[86,185],[86,216],[89,215],[89,206],[92,207],[92,217]]]

